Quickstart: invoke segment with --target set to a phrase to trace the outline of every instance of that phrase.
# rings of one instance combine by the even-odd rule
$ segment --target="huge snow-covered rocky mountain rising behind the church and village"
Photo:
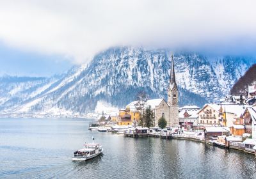
[[[98,101],[124,107],[141,90],[150,98],[166,98],[170,54],[166,49],[115,47],[62,75],[24,82],[6,80],[0,84],[4,91],[0,110],[81,115],[93,111]],[[252,58],[207,58],[195,53],[174,54],[174,61],[180,106],[218,100],[255,63]]]

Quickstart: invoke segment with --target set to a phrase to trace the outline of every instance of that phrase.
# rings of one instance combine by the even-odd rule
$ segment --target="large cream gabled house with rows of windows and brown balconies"
[[[198,111],[198,123],[202,125],[220,125],[219,120],[219,104],[205,104],[202,109]]]

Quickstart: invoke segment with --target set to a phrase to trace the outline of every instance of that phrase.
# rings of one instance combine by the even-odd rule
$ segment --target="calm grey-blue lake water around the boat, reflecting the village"
[[[93,120],[0,119],[0,178],[256,178],[254,155],[184,140],[88,130]],[[72,162],[84,141],[104,155]]]

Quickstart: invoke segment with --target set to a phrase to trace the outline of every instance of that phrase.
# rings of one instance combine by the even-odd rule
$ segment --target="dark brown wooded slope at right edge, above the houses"
[[[230,93],[232,95],[246,95],[248,91],[248,86],[256,82],[256,64],[252,65],[246,73],[239,78],[239,80],[231,88]]]

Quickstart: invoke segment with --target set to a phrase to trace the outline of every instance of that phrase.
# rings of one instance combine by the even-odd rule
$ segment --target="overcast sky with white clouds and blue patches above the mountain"
[[[255,8],[246,0],[0,0],[0,48],[59,70],[117,45],[255,56]],[[8,59],[0,54],[2,73]]]

